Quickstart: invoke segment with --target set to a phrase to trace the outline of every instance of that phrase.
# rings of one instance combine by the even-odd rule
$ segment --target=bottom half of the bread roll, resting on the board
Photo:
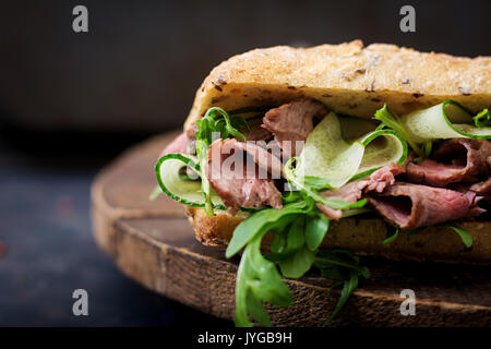
[[[228,245],[236,227],[248,217],[247,214],[230,216],[221,212],[208,217],[203,208],[190,206],[187,215],[196,239],[219,249]],[[469,249],[452,229],[436,226],[412,237],[400,233],[393,243],[384,246],[382,242],[387,238],[387,230],[383,219],[345,218],[331,225],[321,249],[347,249],[394,261],[491,264],[491,221],[466,221],[459,226],[472,236]],[[266,236],[263,245],[271,242],[272,237]]]

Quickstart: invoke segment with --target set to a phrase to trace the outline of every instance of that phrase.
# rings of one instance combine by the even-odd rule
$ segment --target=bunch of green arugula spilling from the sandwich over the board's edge
[[[233,231],[226,256],[231,257],[244,248],[236,284],[237,326],[252,326],[252,320],[270,326],[264,302],[288,306],[291,294],[286,284],[279,286],[282,275],[299,278],[315,263],[322,275],[346,280],[344,291],[333,316],[358,285],[358,278],[368,278],[368,268],[359,264],[359,257],[349,252],[319,253],[319,246],[327,233],[330,219],[314,205],[312,197],[302,191],[301,198],[287,203],[282,209],[265,208],[246,218]],[[291,193],[287,196],[292,195]],[[292,197],[292,196],[290,196]],[[363,212],[361,212],[363,213]],[[271,231],[275,238],[271,254],[261,254],[261,241]],[[278,272],[279,268],[279,272]],[[283,281],[282,281],[283,282]]]

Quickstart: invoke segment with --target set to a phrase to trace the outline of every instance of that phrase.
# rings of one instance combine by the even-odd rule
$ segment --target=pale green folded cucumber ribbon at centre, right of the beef
[[[325,178],[339,188],[391,163],[402,165],[406,157],[407,144],[397,132],[331,112],[307,137],[296,176]]]

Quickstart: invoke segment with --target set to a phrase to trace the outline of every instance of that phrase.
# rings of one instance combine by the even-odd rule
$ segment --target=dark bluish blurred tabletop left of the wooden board
[[[140,137],[1,133],[0,326],[232,326],[128,279],[95,244],[91,182]],[[72,313],[80,288],[88,316]]]

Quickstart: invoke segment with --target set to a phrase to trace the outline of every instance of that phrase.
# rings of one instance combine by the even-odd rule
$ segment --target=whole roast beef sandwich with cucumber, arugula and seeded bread
[[[195,237],[240,255],[235,321],[271,325],[283,278],[340,296],[360,256],[491,263],[491,58],[360,40],[235,56],[196,92],[158,191]]]

